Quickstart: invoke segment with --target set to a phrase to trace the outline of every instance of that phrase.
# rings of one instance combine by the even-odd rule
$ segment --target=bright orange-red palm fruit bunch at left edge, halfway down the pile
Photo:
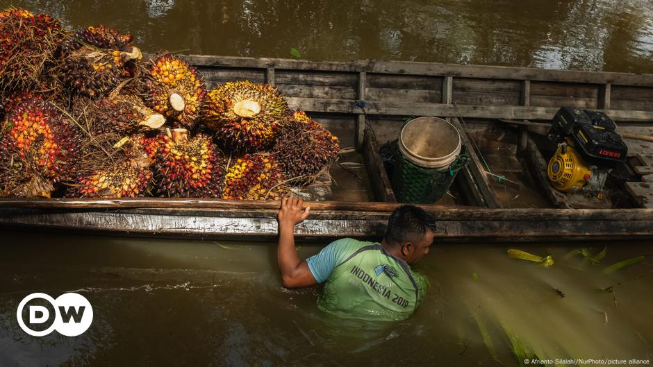
[[[0,151],[15,154],[28,165],[42,167],[52,182],[73,174],[80,135],[49,102],[26,100],[8,114],[3,124]]]

